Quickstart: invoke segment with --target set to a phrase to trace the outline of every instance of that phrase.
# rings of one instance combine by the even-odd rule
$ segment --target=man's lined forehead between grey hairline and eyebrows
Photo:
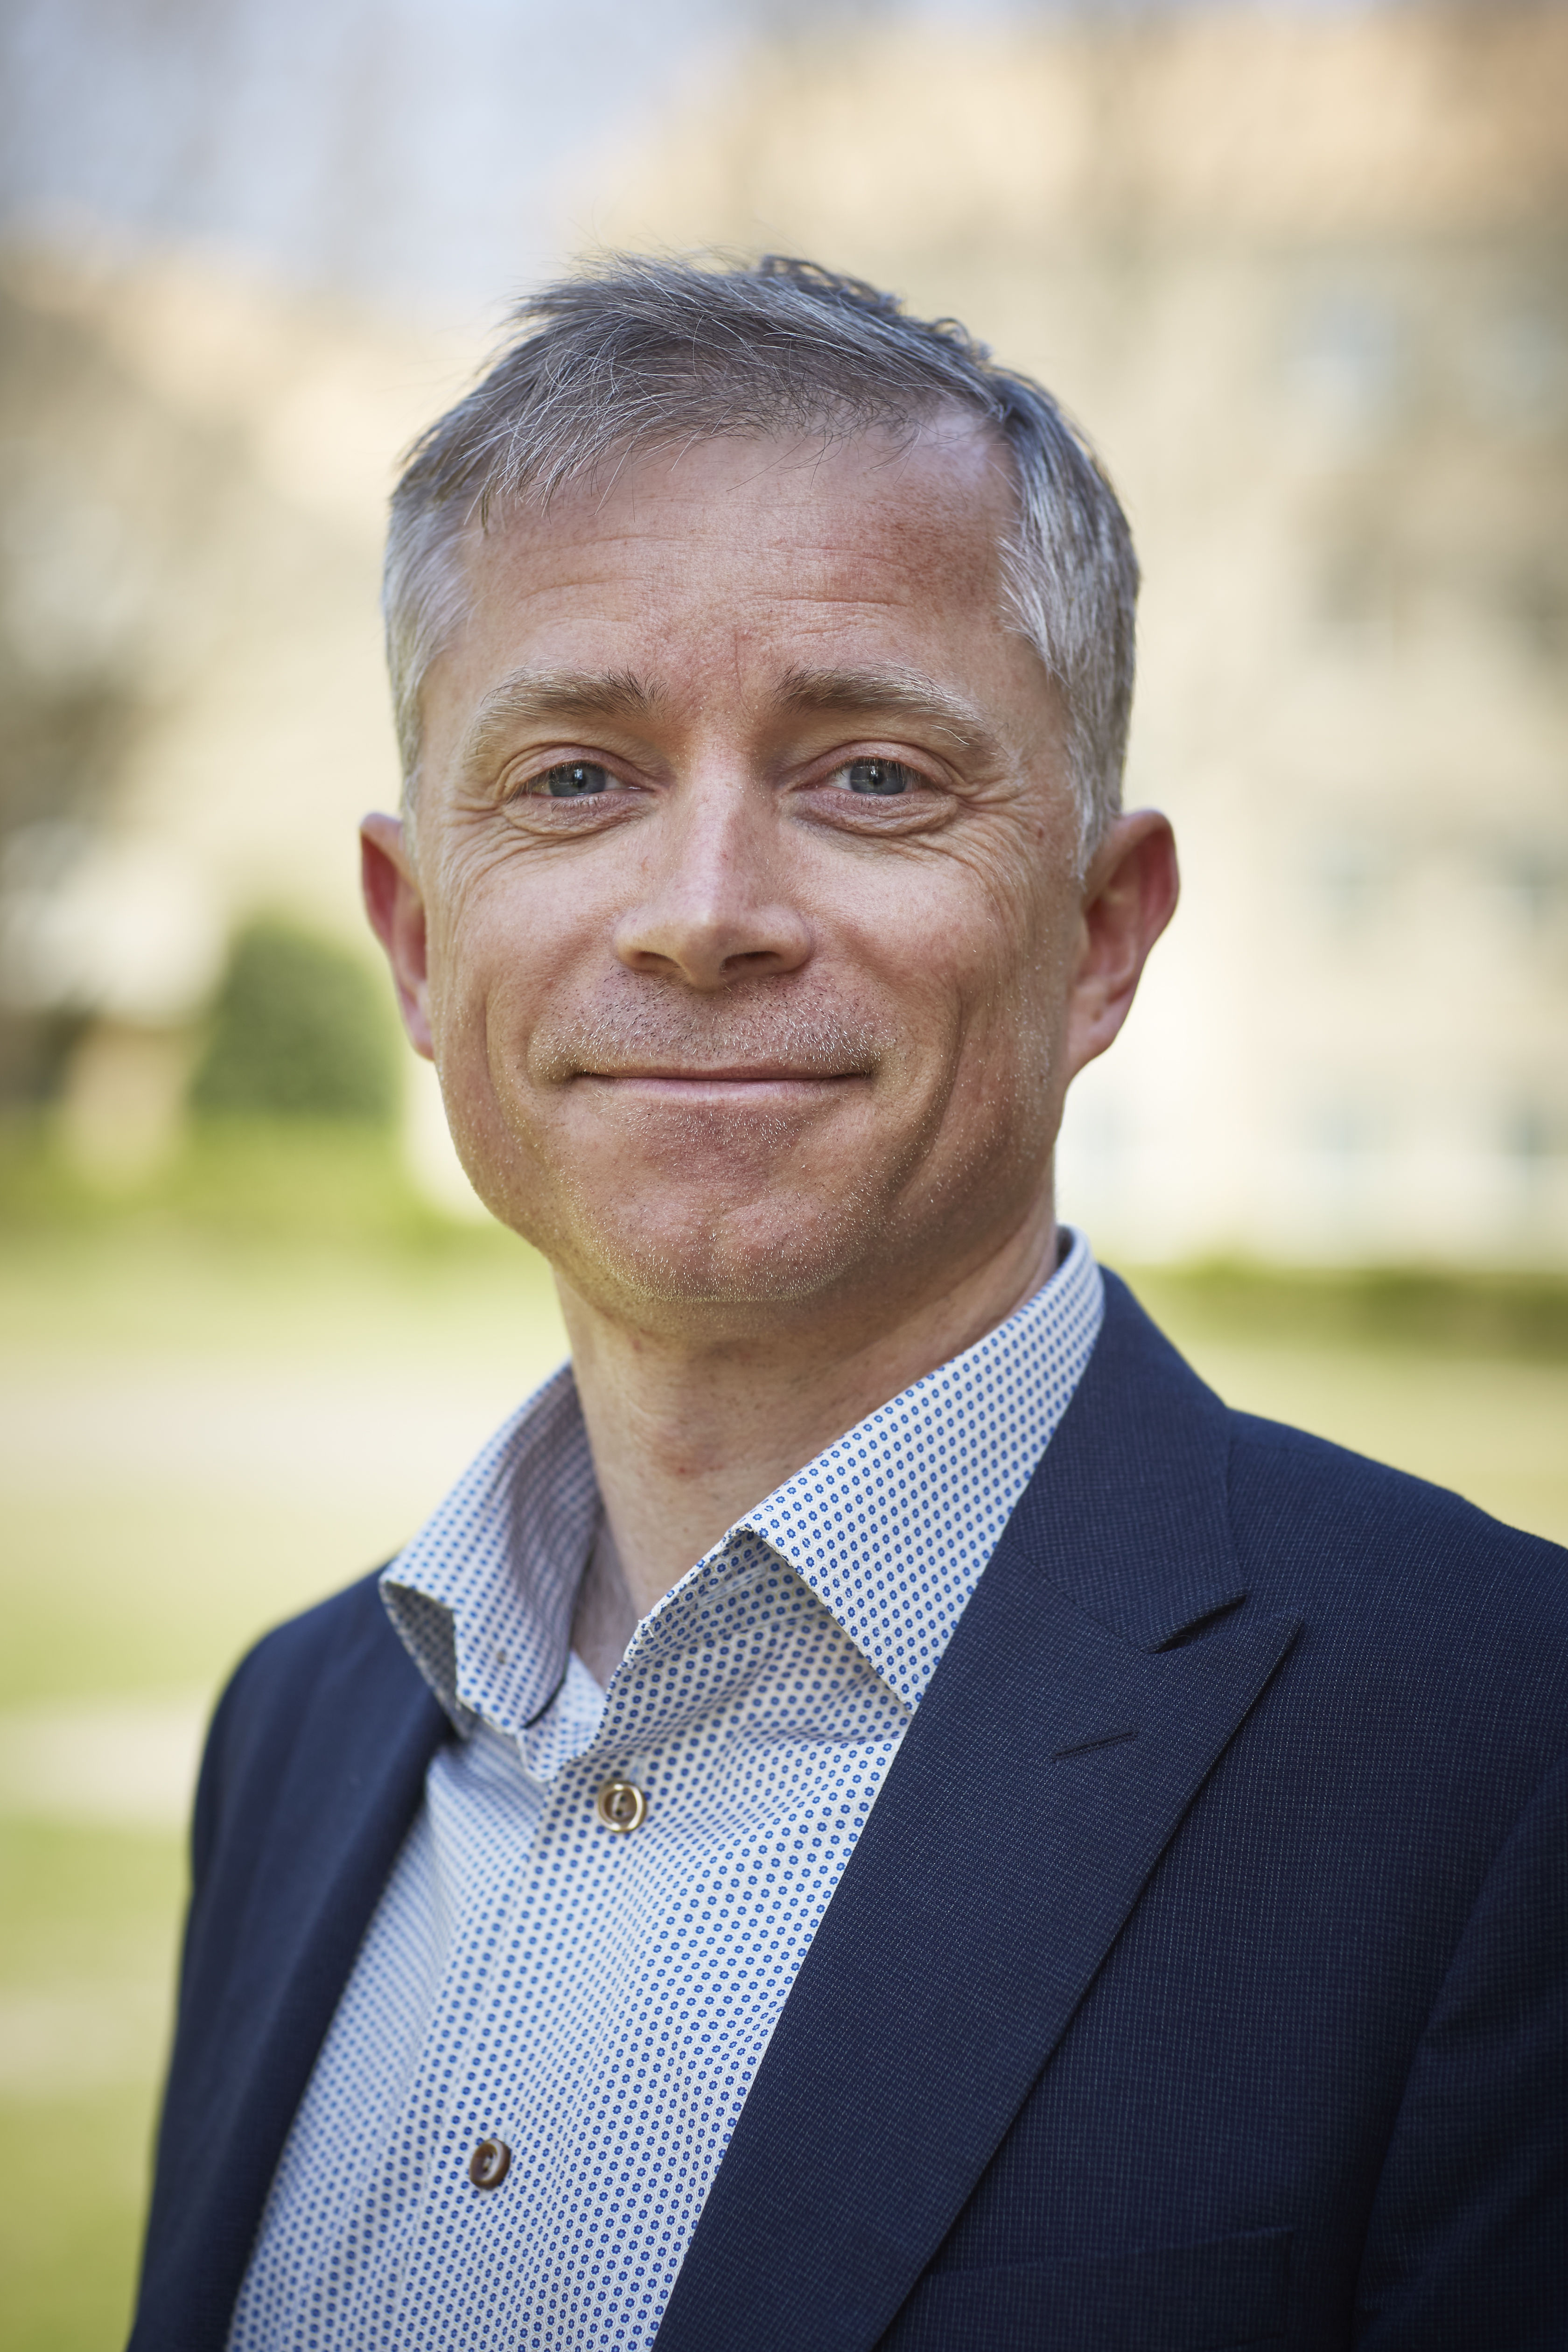
[[[449,668],[766,668],[825,642],[839,661],[961,659],[997,635],[1013,515],[1011,456],[969,421],[632,456],[468,541]]]

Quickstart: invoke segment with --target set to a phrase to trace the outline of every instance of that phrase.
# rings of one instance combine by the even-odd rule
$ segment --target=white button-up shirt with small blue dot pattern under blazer
[[[1053,1279],[569,1653],[597,1489],[571,1374],[388,1569],[461,1740],[299,2107],[230,2352],[646,2347],[844,1863],[1103,1319]],[[649,1818],[595,1816],[611,1771]],[[475,2190],[496,2133],[508,2178]]]

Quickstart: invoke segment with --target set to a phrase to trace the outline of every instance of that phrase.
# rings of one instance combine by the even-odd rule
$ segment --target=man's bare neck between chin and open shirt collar
[[[759,1329],[745,1341],[628,1327],[559,1282],[607,1541],[595,1550],[578,1653],[602,1668],[639,1616],[752,1505],[922,1374],[985,1338],[1056,1265],[1051,1192],[978,1268],[898,1319],[835,1331]],[[616,1618],[616,1625],[609,1625]],[[618,1639],[616,1639],[618,1637]],[[614,1658],[609,1661],[614,1663]]]

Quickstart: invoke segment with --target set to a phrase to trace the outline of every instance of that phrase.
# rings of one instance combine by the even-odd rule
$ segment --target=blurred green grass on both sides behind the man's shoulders
[[[94,1192],[0,1155],[0,1722],[212,1693],[386,1557],[559,1359],[541,1263],[451,1228],[386,1145],[230,1127]],[[1568,1541],[1561,1284],[1145,1275],[1241,1406]],[[5,2352],[120,2340],[183,1860],[174,1828],[0,1818]]]

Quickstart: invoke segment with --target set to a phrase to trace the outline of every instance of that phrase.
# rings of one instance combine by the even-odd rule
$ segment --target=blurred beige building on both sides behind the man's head
[[[1568,12],[846,24],[585,134],[562,238],[853,268],[1103,447],[1187,896],[1065,1209],[1568,1263]],[[468,355],[212,263],[19,252],[2,299],[14,1018],[174,1035],[244,908],[355,922],[381,499]]]

